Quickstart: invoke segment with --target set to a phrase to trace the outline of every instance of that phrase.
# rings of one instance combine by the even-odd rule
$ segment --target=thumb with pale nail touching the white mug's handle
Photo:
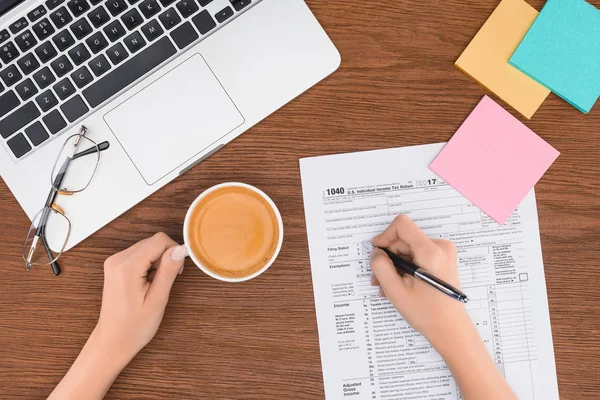
[[[148,290],[146,300],[157,307],[165,307],[175,278],[183,268],[187,250],[184,246],[173,246],[164,252],[160,263],[156,264],[154,279]]]

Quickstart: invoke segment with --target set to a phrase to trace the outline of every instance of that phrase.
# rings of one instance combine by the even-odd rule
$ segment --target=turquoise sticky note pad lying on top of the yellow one
[[[600,10],[584,0],[548,0],[509,63],[589,112],[600,96]]]

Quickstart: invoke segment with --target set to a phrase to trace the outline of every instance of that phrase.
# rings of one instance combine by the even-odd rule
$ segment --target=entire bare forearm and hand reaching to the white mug
[[[106,260],[98,324],[49,400],[104,397],[156,334],[186,255],[185,247],[158,233]]]

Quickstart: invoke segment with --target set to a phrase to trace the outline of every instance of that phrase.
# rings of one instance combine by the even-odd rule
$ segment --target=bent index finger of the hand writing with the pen
[[[371,241],[373,246],[390,247],[397,242],[404,242],[408,245],[410,254],[412,254],[415,263],[419,264],[419,259],[426,263],[429,255],[439,251],[435,243],[425,235],[409,217],[399,215],[387,229]]]

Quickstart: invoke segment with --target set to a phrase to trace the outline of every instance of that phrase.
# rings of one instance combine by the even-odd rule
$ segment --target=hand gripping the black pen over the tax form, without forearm
[[[428,238],[407,216],[396,217],[371,243],[412,260],[434,276],[460,288],[454,244]],[[381,294],[434,346],[438,340],[447,337],[448,327],[457,323],[471,324],[462,303],[412,276],[398,275],[389,257],[376,247],[371,252],[373,285],[381,285]]]

